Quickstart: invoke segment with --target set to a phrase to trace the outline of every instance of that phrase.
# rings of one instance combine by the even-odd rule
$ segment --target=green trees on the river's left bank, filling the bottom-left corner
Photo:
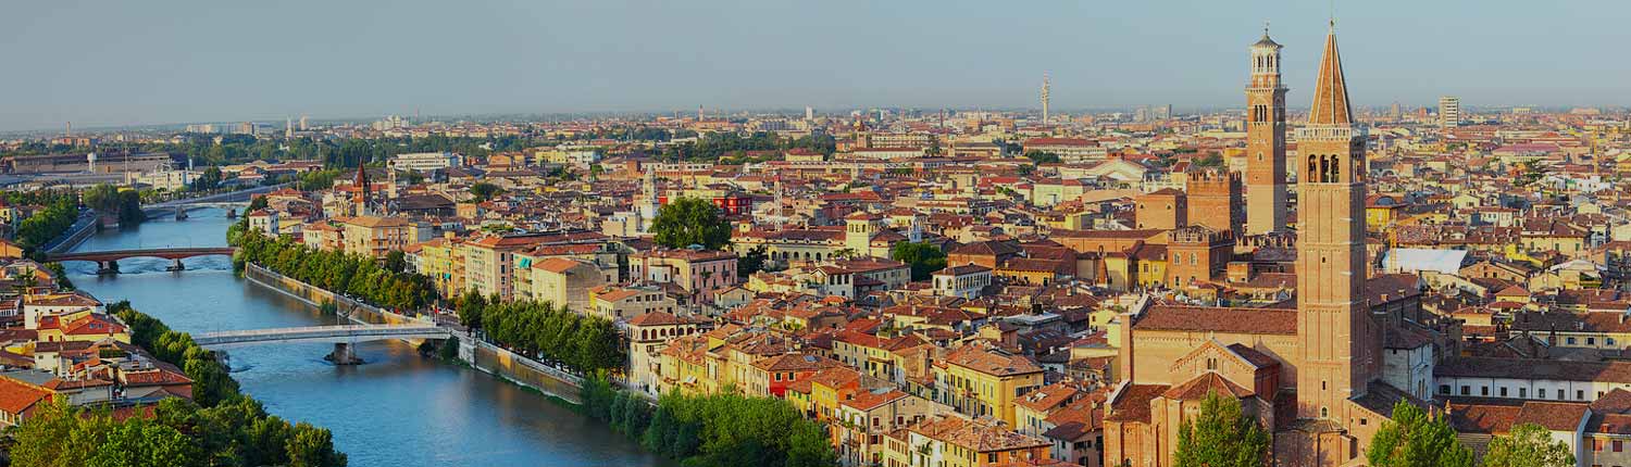
[[[183,368],[192,379],[192,400],[166,399],[150,408],[152,417],[122,420],[106,407],[55,400],[10,431],[11,465],[346,465],[328,430],[266,413],[188,334],[127,301],[108,311],[130,327],[132,343]]]

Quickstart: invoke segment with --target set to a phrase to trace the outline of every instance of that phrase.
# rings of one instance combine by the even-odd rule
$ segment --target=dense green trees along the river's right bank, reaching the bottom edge
[[[584,412],[646,449],[683,465],[837,465],[827,431],[786,400],[736,394],[644,397],[613,389],[605,374],[584,381]]]

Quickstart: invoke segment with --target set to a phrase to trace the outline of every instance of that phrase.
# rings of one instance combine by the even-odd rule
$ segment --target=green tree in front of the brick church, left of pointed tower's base
[[[1262,467],[1269,433],[1241,412],[1240,399],[1209,392],[1200,412],[1179,428],[1173,456],[1178,465]]]

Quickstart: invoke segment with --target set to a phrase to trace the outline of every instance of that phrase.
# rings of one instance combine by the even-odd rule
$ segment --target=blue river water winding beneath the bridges
[[[225,212],[104,231],[75,251],[223,246]],[[103,301],[129,299],[171,329],[214,332],[338,324],[315,308],[232,273],[227,257],[127,259],[122,273],[65,264]],[[334,431],[351,465],[665,465],[603,423],[489,374],[419,356],[401,342],[359,343],[360,366],[323,361],[326,343],[233,348],[233,378],[266,410]]]

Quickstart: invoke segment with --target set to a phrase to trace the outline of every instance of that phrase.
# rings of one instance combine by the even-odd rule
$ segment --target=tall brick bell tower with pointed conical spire
[[[1381,350],[1364,299],[1365,132],[1352,122],[1334,26],[1297,153],[1297,417],[1346,426]]]

